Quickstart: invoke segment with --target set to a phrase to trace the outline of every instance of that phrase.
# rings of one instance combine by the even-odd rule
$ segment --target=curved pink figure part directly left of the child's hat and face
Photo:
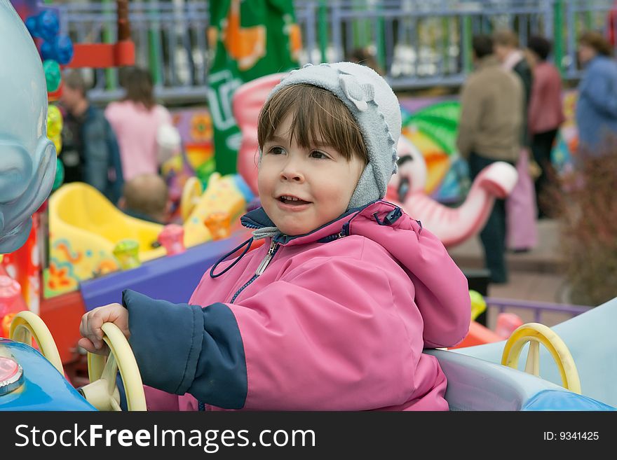
[[[257,196],[257,164],[259,145],[257,144],[257,119],[270,91],[283,78],[285,73],[271,74],[255,78],[240,86],[233,93],[231,110],[242,132],[242,142],[238,150],[238,174],[242,176]]]

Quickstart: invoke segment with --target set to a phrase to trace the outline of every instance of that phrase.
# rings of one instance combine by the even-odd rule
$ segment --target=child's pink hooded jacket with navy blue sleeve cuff
[[[243,223],[250,228],[268,225],[264,216],[257,209]],[[245,364],[246,386],[242,400],[229,407],[448,409],[443,398],[445,375],[436,358],[422,350],[452,347],[463,340],[470,323],[470,298],[466,277],[434,235],[400,208],[379,201],[308,235],[275,239],[239,259],[212,267],[189,301],[201,306],[204,314],[210,308],[229,309],[237,323],[244,357],[239,367]],[[261,274],[256,275],[260,265]],[[130,302],[125,303],[135,349],[133,340],[147,341],[152,330],[135,326],[144,331],[134,332],[133,323],[142,320],[133,322]],[[153,308],[147,306],[149,312]],[[194,313],[185,323],[194,324],[198,316]],[[204,324],[213,328],[214,322],[205,320]],[[172,333],[171,319],[161,323]],[[223,327],[216,329],[203,339],[202,347],[215,335],[223,335]],[[194,342],[187,345],[186,353],[190,355],[194,347]],[[211,350],[214,345],[207,347]],[[224,347],[219,354],[229,354],[229,347]],[[199,356],[197,361],[203,359]],[[240,358],[232,361],[230,368]],[[181,369],[187,366],[179,364]],[[199,377],[199,363],[196,369],[189,369],[189,374]],[[175,382],[190,380],[183,372]],[[148,371],[146,375],[144,383],[149,384]],[[163,389],[173,388],[179,394],[187,391],[208,404],[207,398],[216,399],[206,395],[211,388],[200,393],[196,379],[191,379]],[[211,379],[226,380],[227,391],[233,391],[229,375]],[[211,381],[202,384],[214,385]],[[215,391],[208,394],[215,395]],[[148,389],[148,395],[153,410],[198,407],[190,395],[165,398],[154,389]]]

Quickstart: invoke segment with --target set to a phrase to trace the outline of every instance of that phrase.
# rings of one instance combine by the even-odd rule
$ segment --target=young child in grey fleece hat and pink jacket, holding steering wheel
[[[259,116],[262,208],[242,218],[266,244],[216,263],[188,305],[124,291],[83,316],[79,344],[103,353],[101,325],[116,323],[144,384],[173,393],[147,387],[151,410],[447,410],[422,350],[463,340],[468,285],[436,237],[380,200],[400,125],[372,69],[292,71]]]

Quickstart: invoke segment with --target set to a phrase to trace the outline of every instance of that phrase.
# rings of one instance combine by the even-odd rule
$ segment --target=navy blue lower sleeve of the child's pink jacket
[[[236,317],[223,303],[173,304],[126,290],[130,346],[142,382],[203,403],[240,409],[248,377]]]

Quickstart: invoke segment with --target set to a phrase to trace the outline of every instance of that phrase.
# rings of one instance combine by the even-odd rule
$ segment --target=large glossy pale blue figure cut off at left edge
[[[55,177],[43,64],[23,21],[0,0],[0,253],[25,243]]]

